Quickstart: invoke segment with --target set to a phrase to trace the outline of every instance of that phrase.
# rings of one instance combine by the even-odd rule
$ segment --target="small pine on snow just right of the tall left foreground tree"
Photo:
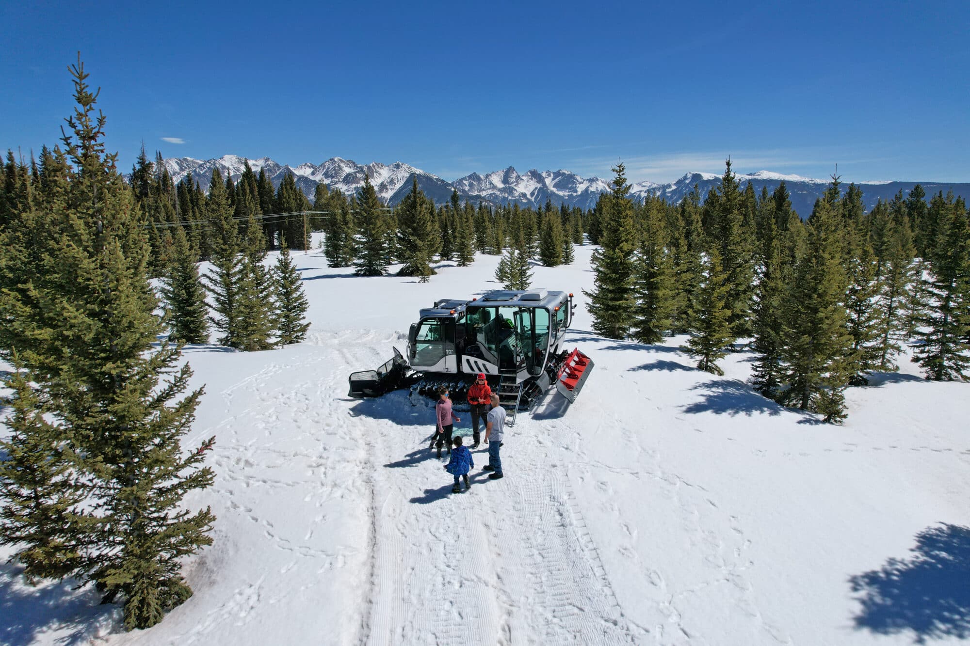
[[[175,236],[175,257],[160,288],[169,323],[169,339],[185,343],[208,343],[209,321],[206,289],[185,232]]]

